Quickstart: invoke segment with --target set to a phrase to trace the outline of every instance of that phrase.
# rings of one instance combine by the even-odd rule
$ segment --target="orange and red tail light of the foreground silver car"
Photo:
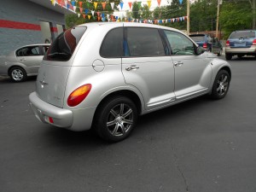
[[[74,107],[79,105],[80,102],[83,102],[85,97],[88,96],[91,90],[91,84],[84,84],[78,89],[73,90],[73,92],[67,98],[67,105]]]

